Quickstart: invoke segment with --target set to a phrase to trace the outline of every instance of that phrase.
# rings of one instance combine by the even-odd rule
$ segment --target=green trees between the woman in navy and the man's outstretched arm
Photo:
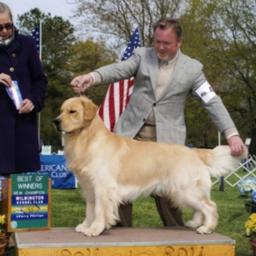
[[[70,81],[73,77],[88,73],[118,59],[115,52],[108,49],[105,41],[93,38],[76,41],[74,27],[68,20],[51,14],[31,9],[18,17],[18,26],[24,34],[42,20],[42,66],[48,78],[45,108],[40,114],[40,138],[47,145],[52,145],[52,152],[62,149],[62,134],[55,130],[54,119],[59,115],[63,101],[75,97]],[[86,95],[100,105],[107,86],[90,88]],[[38,115],[39,118],[39,115]]]

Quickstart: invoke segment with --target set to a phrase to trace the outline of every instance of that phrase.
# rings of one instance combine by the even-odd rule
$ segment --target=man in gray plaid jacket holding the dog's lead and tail
[[[189,94],[207,110],[227,139],[233,155],[245,145],[221,98],[205,79],[202,64],[182,54],[182,27],[179,20],[161,18],[154,26],[154,48],[134,49],[126,61],[101,67],[74,78],[74,91],[88,86],[114,83],[134,76],[129,105],[116,123],[115,133],[140,141],[183,144],[186,139],[184,105]],[[143,154],[143,152],[141,152]],[[165,198],[155,197],[165,226],[183,226],[182,211]],[[118,226],[131,226],[132,205],[120,206]]]

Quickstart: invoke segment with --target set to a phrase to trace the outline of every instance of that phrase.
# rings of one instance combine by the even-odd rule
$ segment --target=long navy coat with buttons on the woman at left
[[[16,80],[23,99],[30,99],[34,109],[19,114],[0,84],[0,173],[40,170],[36,112],[44,108],[47,77],[34,39],[18,34],[8,48],[0,46],[0,73]]]

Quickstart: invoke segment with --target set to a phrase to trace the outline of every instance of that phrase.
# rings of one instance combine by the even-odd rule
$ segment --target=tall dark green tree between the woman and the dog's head
[[[18,16],[18,27],[23,34],[30,34],[42,20],[42,66],[48,78],[45,108],[41,112],[40,137],[54,151],[61,148],[60,134],[55,130],[53,120],[59,115],[64,99],[73,95],[69,86],[72,73],[65,70],[69,59],[68,48],[75,41],[74,28],[68,20],[42,13],[38,8]]]

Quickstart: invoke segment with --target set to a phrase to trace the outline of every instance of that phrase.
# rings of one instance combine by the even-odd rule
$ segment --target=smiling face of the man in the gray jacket
[[[162,30],[159,27],[155,30],[155,53],[161,61],[173,59],[178,49],[182,46],[182,37],[177,40],[172,27]]]

